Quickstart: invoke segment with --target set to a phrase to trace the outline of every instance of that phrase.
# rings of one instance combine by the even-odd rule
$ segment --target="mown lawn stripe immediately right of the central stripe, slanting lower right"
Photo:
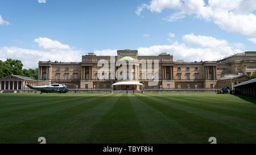
[[[189,135],[188,129],[148,106],[141,97],[129,95],[129,99],[144,135],[143,143],[198,143],[195,137]]]

